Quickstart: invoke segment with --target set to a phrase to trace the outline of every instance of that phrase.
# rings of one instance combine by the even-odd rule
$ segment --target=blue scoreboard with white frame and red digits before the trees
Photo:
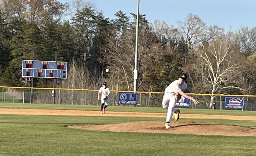
[[[66,79],[67,62],[61,61],[22,61],[22,77]]]

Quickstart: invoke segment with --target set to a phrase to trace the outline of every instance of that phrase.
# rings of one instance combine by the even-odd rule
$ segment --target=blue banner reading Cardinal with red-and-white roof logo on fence
[[[243,97],[225,97],[225,109],[244,109]]]

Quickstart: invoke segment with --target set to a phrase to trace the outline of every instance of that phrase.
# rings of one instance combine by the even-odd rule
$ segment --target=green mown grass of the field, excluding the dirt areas
[[[99,110],[99,106],[10,104],[0,108]],[[162,108],[109,107],[108,111],[159,112]],[[182,113],[256,116],[253,111],[181,109]],[[185,122],[181,118],[180,122]],[[256,121],[189,119],[256,127]],[[191,134],[105,132],[71,129],[70,124],[111,124],[133,121],[165,121],[155,117],[87,117],[0,114],[0,155],[184,155],[253,156],[256,137]]]

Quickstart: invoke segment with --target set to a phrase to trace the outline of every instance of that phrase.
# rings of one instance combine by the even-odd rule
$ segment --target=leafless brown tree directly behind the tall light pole
[[[141,28],[139,36],[138,55],[138,88],[143,83],[143,74],[151,68],[151,63],[158,58],[161,48],[158,39],[150,28]],[[111,37],[108,45],[101,47],[103,59],[109,65],[111,72],[118,77],[118,83],[124,90],[133,88],[133,70],[135,56],[135,31],[129,30],[119,38]]]

